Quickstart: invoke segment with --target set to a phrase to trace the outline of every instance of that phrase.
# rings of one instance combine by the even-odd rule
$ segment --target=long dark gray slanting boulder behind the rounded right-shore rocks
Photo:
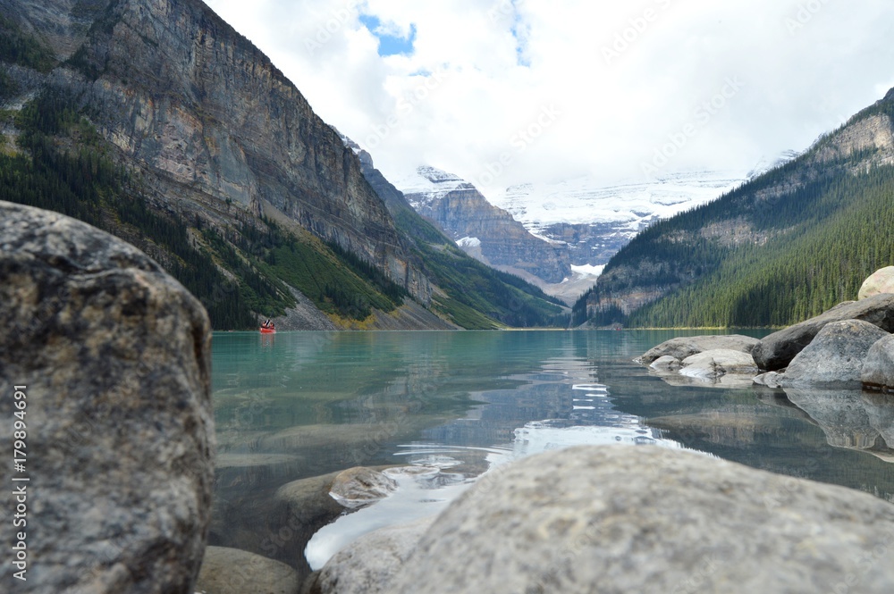
[[[779,371],[787,367],[826,324],[842,320],[863,320],[886,332],[894,331],[894,295],[886,293],[835,305],[823,314],[764,337],[751,355],[764,371]]]

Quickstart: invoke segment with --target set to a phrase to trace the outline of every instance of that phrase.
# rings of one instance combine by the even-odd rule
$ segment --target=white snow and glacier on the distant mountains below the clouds
[[[521,184],[489,193],[485,198],[510,213],[536,238],[567,247],[573,274],[559,285],[586,284],[592,283],[611,256],[652,222],[704,205],[796,156],[795,152],[787,152],[762,159],[749,172],[678,172],[654,181],[614,184],[581,177],[557,183]],[[397,180],[395,186],[401,188],[418,213],[434,220],[443,219],[445,212],[451,210],[444,206],[445,197],[468,196],[472,192],[481,196],[468,181],[434,167],[419,167],[415,175]],[[480,216],[480,205],[476,208],[477,213],[473,209],[463,218],[474,220]],[[452,210],[455,216],[455,207]],[[453,234],[470,253],[481,250],[481,238],[463,230],[453,230]],[[544,289],[552,294],[565,292],[556,284]]]

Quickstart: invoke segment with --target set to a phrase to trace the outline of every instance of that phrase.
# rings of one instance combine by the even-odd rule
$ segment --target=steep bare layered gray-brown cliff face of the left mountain
[[[70,33],[55,44],[60,57],[92,26],[73,70],[57,70],[52,83],[78,96],[105,138],[165,186],[161,199],[189,199],[193,209],[226,201],[256,216],[269,203],[428,303],[431,287],[357,157],[257,47],[198,0],[80,4],[49,11],[34,0],[16,18],[42,38]],[[95,18],[65,29],[46,22],[48,11],[54,21]]]

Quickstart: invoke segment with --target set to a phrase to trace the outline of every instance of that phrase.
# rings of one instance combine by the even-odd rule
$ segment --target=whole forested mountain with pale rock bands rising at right
[[[574,322],[785,325],[894,264],[894,89],[803,155],[654,223],[611,258]]]

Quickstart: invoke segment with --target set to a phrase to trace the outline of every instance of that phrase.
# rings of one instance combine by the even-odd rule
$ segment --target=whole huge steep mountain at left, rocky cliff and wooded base
[[[215,328],[464,325],[358,157],[198,0],[0,0],[0,63],[0,199],[131,241]]]

